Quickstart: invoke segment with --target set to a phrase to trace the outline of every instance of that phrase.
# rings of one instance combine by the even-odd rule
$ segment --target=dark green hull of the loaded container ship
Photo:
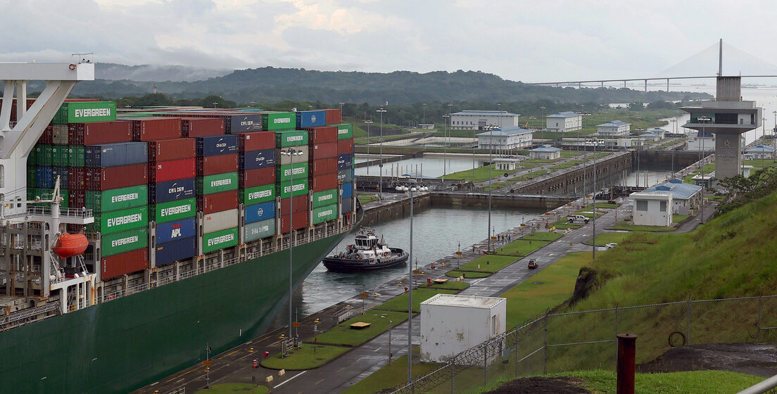
[[[294,247],[294,286],[347,233]],[[265,332],[288,299],[288,250],[0,333],[15,393],[124,393]]]

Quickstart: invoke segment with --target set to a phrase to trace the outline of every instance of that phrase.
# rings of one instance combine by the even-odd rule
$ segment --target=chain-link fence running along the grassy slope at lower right
[[[526,375],[614,371],[617,333],[639,336],[637,364],[671,368],[671,360],[658,357],[671,347],[777,342],[777,295],[546,312],[390,392],[465,394]]]

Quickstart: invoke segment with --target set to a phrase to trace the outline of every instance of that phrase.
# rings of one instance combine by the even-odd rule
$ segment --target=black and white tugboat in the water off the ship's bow
[[[394,267],[407,261],[408,254],[404,250],[389,248],[383,239],[378,242],[373,228],[361,228],[355,241],[346,252],[326,256],[324,267],[333,272],[362,272]]]

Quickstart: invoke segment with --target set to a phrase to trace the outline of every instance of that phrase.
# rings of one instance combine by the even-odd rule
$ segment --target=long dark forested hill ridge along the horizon
[[[99,66],[98,66],[99,67]],[[151,92],[152,82],[98,80],[79,83],[74,94],[118,98]],[[285,99],[324,103],[418,103],[423,101],[516,102],[552,99],[564,103],[632,103],[709,97],[695,92],[632,89],[573,89],[526,85],[480,71],[390,73],[250,68],[195,82],[157,81],[159,92],[179,98],[218,94],[239,103]]]

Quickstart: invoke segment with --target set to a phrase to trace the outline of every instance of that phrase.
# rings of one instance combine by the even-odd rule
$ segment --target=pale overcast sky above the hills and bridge
[[[722,37],[777,74],[773,1],[0,0],[0,15],[0,61],[89,51],[127,65],[462,69],[540,82],[666,76]],[[714,74],[713,52],[688,72]]]

